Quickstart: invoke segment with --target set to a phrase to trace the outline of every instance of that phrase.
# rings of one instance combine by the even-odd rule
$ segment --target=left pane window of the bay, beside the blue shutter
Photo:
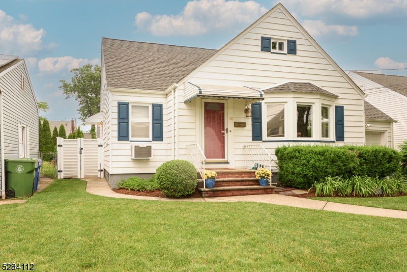
[[[267,104],[267,137],[284,137],[284,104]]]

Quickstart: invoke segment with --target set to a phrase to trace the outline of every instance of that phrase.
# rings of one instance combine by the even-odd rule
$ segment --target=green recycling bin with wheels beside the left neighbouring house
[[[36,158],[6,159],[6,198],[31,197],[34,193]]]

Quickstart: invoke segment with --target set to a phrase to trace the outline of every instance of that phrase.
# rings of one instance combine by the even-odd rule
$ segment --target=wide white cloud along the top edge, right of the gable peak
[[[407,0],[279,0],[288,10],[303,16],[329,13],[353,18],[369,18],[378,15],[407,14]]]

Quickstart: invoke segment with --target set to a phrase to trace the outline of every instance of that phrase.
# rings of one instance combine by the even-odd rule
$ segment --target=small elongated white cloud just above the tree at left
[[[38,62],[38,68],[41,72],[56,73],[62,69],[68,71],[73,68],[79,68],[85,64],[99,64],[99,59],[75,59],[71,56],[65,56],[60,58],[45,58]]]

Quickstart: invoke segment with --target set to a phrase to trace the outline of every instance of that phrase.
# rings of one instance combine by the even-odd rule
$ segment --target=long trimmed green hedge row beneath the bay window
[[[384,146],[281,146],[276,148],[278,180],[309,188],[331,176],[384,178],[400,171],[399,152]]]

